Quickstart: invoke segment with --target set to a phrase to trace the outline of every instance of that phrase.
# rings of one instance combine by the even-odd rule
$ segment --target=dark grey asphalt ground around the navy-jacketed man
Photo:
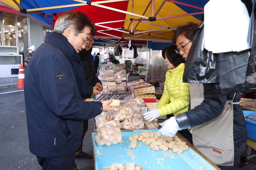
[[[93,155],[93,119],[83,140],[83,151]],[[79,170],[94,170],[94,159],[75,158]],[[29,151],[24,91],[0,90],[0,170],[42,170]]]

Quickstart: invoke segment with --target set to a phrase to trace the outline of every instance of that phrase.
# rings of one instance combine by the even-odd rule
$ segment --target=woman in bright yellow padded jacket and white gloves
[[[165,63],[168,70],[165,75],[165,87],[163,95],[157,104],[157,108],[143,114],[146,120],[152,121],[159,116],[173,114],[174,116],[188,111],[190,102],[189,83],[182,83],[185,68],[185,59],[175,50],[176,45],[163,49],[165,51]],[[188,129],[179,131],[183,137],[192,143],[192,135]]]

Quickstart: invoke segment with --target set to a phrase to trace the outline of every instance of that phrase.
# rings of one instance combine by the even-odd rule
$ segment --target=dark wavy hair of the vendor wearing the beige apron
[[[174,44],[176,44],[177,36],[183,35],[189,41],[193,42],[193,32],[196,30],[197,27],[198,27],[198,25],[193,22],[190,22],[190,23],[187,23],[186,25],[182,25],[182,26],[178,27],[176,29],[176,31],[174,31],[174,36],[173,36],[172,41],[174,42]]]

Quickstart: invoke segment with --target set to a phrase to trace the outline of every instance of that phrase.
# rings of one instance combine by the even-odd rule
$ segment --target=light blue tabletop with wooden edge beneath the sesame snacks
[[[113,163],[122,163],[125,165],[126,163],[134,162],[142,166],[143,170],[220,170],[218,166],[204,157],[195,147],[178,134],[176,135],[189,146],[189,150],[183,151],[182,154],[169,151],[153,151],[143,143],[139,146],[140,141],[138,141],[135,149],[128,148],[131,143],[128,139],[130,136],[146,131],[154,132],[158,131],[158,129],[123,131],[122,137],[124,142],[113,146],[98,146],[95,143],[97,132],[93,132],[94,169],[103,170],[103,167],[112,166]]]

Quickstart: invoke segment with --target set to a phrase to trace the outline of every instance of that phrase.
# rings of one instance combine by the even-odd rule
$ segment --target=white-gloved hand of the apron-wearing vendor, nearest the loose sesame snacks
[[[162,126],[157,133],[159,136],[162,134],[167,137],[173,137],[178,130],[181,130],[174,116],[159,124]]]

